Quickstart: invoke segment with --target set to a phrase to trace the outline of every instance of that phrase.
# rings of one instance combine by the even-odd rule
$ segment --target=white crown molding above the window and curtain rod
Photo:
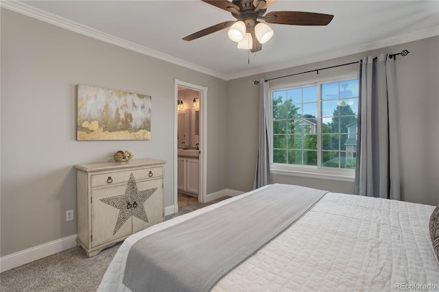
[[[364,53],[366,51],[372,51],[375,49],[381,49],[384,47],[391,47],[393,45],[401,45],[406,42],[413,42],[415,40],[421,40],[423,38],[430,38],[432,36],[438,36],[439,35],[439,28],[433,27],[431,29],[425,29],[419,32],[413,32],[411,34],[405,34],[402,36],[395,36],[393,38],[388,38],[385,40],[380,40],[378,42],[370,42],[365,45],[359,45],[351,48],[346,49],[337,49],[335,51],[331,51],[329,53],[323,53],[318,56],[312,56],[310,58],[300,58],[293,60],[291,62],[283,62],[281,64],[274,64],[272,66],[263,66],[258,69],[254,70],[248,70],[236,74],[229,74],[227,75],[226,80],[234,80],[241,77],[248,77],[252,75],[259,75],[263,73],[268,73],[272,71],[278,71],[283,69],[292,68],[294,66],[302,66],[306,64],[311,64],[315,62],[321,62],[326,60],[331,60],[335,58],[341,58],[346,57],[350,55],[354,55],[356,53]]]

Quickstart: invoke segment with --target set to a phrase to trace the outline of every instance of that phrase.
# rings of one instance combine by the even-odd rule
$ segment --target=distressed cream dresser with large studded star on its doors
[[[78,245],[88,257],[163,221],[164,160],[75,165]]]

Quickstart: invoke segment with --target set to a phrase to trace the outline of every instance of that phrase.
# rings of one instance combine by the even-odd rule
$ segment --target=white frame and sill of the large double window
[[[273,112],[273,92],[278,90],[287,90],[291,88],[302,88],[307,86],[317,87],[317,112],[320,116],[321,102],[320,102],[320,90],[321,84],[331,82],[342,82],[347,80],[358,79],[358,72],[351,72],[342,75],[335,75],[332,77],[314,78],[313,80],[292,82],[288,84],[281,84],[276,86],[270,86],[270,111]],[[317,128],[319,131],[322,129],[322,120],[320,117],[317,119]],[[355,180],[355,169],[335,169],[333,167],[320,167],[312,165],[287,165],[284,163],[273,163],[273,119],[270,121],[270,172],[274,174],[282,175],[295,175],[305,178],[323,178],[326,180],[338,180],[353,182]],[[317,156],[318,161],[321,162],[322,158],[322,134],[317,133]]]

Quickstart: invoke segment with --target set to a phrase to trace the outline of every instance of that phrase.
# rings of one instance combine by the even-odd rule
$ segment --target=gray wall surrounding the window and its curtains
[[[228,188],[250,191],[253,186],[258,138],[259,86],[254,80],[270,79],[360,60],[379,53],[410,51],[396,58],[396,90],[398,93],[397,129],[401,145],[402,199],[407,202],[439,204],[439,38],[427,38],[403,45],[366,51],[353,56],[297,66],[228,82]],[[357,71],[357,64],[320,71],[320,77]],[[307,73],[274,80],[283,84],[316,77]],[[245,112],[245,114],[243,114]],[[338,182],[272,175],[272,182],[324,188],[333,192],[354,193],[353,182]]]

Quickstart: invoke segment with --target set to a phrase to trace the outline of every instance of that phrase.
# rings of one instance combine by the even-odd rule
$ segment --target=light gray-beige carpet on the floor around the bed
[[[207,204],[196,203],[165,217],[169,220],[193,210],[227,199],[222,197]],[[21,267],[0,273],[0,291],[96,291],[121,243],[87,258],[80,247],[73,247]]]

